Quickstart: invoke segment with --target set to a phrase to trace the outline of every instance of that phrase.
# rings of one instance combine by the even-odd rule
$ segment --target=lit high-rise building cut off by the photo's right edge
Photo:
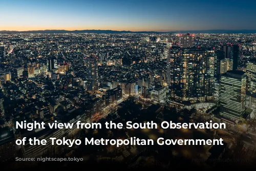
[[[247,74],[247,90],[250,92],[256,91],[256,60],[251,60],[246,66]]]

